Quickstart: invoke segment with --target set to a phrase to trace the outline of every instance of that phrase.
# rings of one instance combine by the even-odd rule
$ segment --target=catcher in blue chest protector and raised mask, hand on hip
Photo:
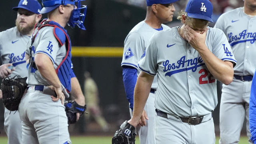
[[[19,105],[23,144],[71,144],[64,99],[74,88],[83,106],[84,96],[71,78],[71,42],[64,27],[85,30],[86,6],[80,1],[42,0],[40,13],[48,13],[48,19],[36,25],[26,49],[28,92]]]

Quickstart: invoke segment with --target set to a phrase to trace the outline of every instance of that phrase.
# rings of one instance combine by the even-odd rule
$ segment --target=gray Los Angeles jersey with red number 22
[[[225,34],[209,28],[206,46],[220,60],[236,63]],[[155,107],[181,117],[203,116],[216,107],[216,80],[202,58],[178,33],[178,27],[156,32],[138,67],[156,75]]]

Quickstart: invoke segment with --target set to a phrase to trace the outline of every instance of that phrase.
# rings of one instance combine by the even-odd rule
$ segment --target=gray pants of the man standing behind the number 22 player
[[[155,93],[149,93],[148,100],[146,102],[146,105],[144,107],[144,110],[146,111],[148,115],[148,120],[146,120],[146,126],[137,126],[136,130],[138,131],[139,138],[140,138],[140,144],[154,144],[154,134],[153,134],[153,128],[154,128],[154,118],[155,118]],[[130,115],[132,116],[132,110],[130,109]]]

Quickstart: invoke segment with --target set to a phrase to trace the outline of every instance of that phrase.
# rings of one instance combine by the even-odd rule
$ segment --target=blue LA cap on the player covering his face
[[[212,20],[212,3],[209,0],[189,0],[185,12],[188,17],[203,20]]]

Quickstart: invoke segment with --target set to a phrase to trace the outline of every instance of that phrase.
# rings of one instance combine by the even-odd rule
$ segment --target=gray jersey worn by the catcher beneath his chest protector
[[[62,62],[62,58],[66,55],[66,46],[63,45],[59,47],[59,43],[53,34],[53,28],[51,26],[43,27],[38,32],[33,43],[34,48],[32,48],[32,58],[35,54],[42,53],[46,54],[52,61],[54,68],[56,69],[58,65]],[[31,44],[31,40],[28,42]],[[27,46],[26,53],[29,55],[29,46]],[[36,70],[31,72],[31,66],[28,66],[28,86],[33,85],[44,85],[49,86],[50,84],[41,76],[40,72]]]

